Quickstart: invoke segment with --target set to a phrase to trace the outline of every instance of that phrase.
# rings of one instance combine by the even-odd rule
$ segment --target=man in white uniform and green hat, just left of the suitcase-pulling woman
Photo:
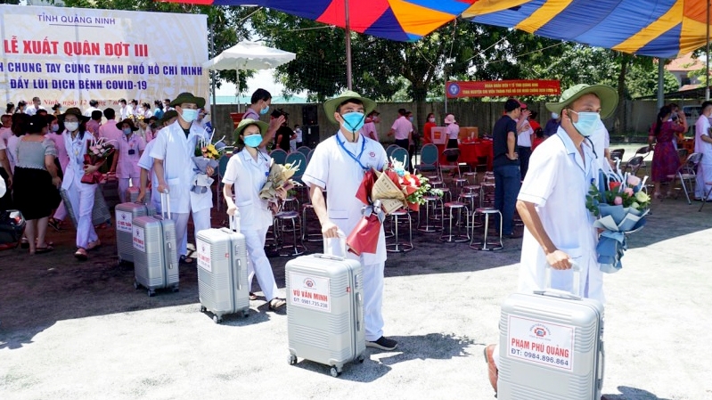
[[[189,215],[192,215],[195,232],[210,228],[212,191],[198,193],[191,190],[195,176],[192,162],[195,144],[199,138],[204,137],[204,130],[193,124],[193,121],[198,118],[198,109],[205,106],[205,99],[182,93],[170,105],[175,107],[178,119],[161,129],[153,140],[156,144],[151,149],[151,158],[158,179],[154,188],[159,193],[170,194],[171,219],[176,221],[176,238],[183,238],[188,229]],[[208,176],[214,172],[212,167],[208,167]],[[179,248],[181,262],[195,262],[192,257],[187,257],[185,243],[181,243]]]

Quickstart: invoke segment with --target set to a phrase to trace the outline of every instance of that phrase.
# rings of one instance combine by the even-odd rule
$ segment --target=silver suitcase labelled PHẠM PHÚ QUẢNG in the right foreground
[[[547,289],[512,294],[504,302],[499,400],[601,399],[603,305],[577,296],[579,272],[574,268],[574,293]]]

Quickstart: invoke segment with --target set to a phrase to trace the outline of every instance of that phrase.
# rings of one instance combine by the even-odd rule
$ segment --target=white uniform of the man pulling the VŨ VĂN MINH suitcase
[[[404,118],[405,119],[405,118]],[[405,119],[407,122],[407,119]],[[356,199],[356,191],[364,178],[364,170],[381,170],[387,162],[381,143],[358,135],[356,143],[348,143],[341,133],[316,146],[312,159],[302,176],[308,186],[326,189],[326,212],[332,223],[347,236],[361,220],[364,204]],[[333,241],[332,241],[333,242]],[[331,243],[337,247],[336,243]],[[364,266],[364,320],[367,341],[383,336],[383,269],[386,264],[386,237],[381,226],[376,253],[362,253],[360,257],[348,253]],[[335,250],[334,254],[339,254]]]

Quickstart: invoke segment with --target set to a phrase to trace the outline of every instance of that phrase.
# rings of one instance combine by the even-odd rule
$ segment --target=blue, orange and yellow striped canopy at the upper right
[[[659,58],[708,42],[708,0],[479,0],[462,18]]]

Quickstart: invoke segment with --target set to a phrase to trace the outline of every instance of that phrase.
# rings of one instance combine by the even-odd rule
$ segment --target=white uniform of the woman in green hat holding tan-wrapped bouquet
[[[267,208],[267,200],[259,198],[259,191],[267,182],[270,159],[261,151],[253,159],[250,152],[242,150],[233,154],[227,162],[223,184],[232,184],[235,206],[240,213],[240,232],[245,235],[248,258],[249,284],[257,274],[259,287],[267,302],[277,297],[277,283],[274,282],[272,265],[265,254],[267,229],[272,225],[272,211]]]

